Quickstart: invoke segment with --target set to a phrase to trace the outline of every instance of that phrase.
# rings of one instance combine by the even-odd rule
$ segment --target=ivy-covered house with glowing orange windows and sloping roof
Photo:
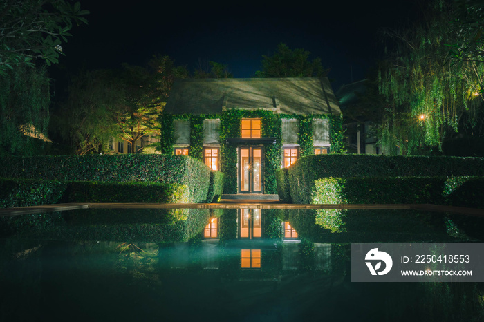
[[[161,120],[162,153],[225,174],[224,193],[277,193],[275,173],[342,150],[342,116],[326,77],[178,79]]]

